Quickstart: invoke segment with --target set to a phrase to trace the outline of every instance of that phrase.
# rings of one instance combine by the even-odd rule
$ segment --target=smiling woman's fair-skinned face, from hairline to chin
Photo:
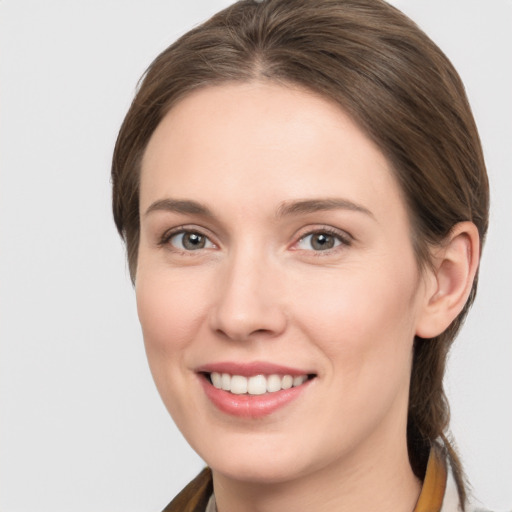
[[[194,92],[150,140],[140,209],[149,364],[214,471],[283,482],[403,453],[427,293],[388,162],[338,106]]]

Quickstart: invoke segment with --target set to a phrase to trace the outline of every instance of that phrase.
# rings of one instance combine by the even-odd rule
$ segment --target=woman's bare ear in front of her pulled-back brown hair
[[[477,227],[472,222],[456,224],[443,244],[432,251],[432,260],[416,325],[416,335],[421,338],[445,331],[466,304],[480,260]]]

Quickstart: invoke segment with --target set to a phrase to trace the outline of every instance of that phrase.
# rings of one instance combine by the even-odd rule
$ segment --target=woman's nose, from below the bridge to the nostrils
[[[217,279],[210,328],[233,341],[275,338],[287,325],[280,272],[261,255],[238,254]]]

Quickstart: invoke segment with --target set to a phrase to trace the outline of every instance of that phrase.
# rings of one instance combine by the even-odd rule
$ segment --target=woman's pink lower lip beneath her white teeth
[[[311,382],[307,380],[300,386],[263,395],[235,395],[217,389],[204,376],[200,376],[200,380],[206,396],[218,409],[240,418],[262,418],[272,414],[298,398]]]

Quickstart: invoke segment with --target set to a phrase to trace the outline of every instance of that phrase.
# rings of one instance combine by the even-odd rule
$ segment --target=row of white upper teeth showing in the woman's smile
[[[229,391],[235,395],[263,395],[275,393],[282,389],[290,389],[300,386],[307,380],[307,375],[293,377],[292,375],[230,375],[229,373],[212,372],[210,374],[212,384],[217,389]]]

